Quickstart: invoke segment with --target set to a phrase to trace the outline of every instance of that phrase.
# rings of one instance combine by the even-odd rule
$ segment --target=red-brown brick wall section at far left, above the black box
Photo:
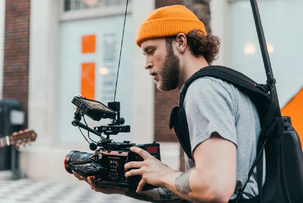
[[[30,0],[5,1],[3,98],[15,98],[27,127]]]

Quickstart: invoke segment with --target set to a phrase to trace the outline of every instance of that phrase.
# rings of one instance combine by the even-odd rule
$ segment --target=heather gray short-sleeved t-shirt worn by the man
[[[188,122],[191,150],[207,140],[212,132],[237,146],[237,175],[235,193],[241,191],[247,181],[255,158],[259,133],[259,116],[255,105],[246,93],[235,86],[213,77],[198,78],[188,87],[184,108]],[[185,169],[195,163],[185,154]],[[265,182],[265,155],[263,185]],[[258,195],[256,167],[245,187],[242,198]],[[231,199],[236,198],[232,195]]]

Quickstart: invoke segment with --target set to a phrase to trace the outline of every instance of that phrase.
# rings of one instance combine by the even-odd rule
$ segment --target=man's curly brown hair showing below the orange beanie
[[[171,46],[172,40],[177,35],[166,37],[167,45]],[[194,29],[186,35],[187,44],[189,45],[192,54],[198,58],[203,56],[209,65],[217,59],[220,49],[220,39],[214,35],[204,35],[203,31]]]

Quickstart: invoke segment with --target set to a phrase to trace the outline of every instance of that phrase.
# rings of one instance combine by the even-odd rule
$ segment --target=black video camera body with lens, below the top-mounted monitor
[[[79,161],[73,162],[67,160],[68,168],[83,177],[93,176],[96,185],[135,191],[142,177],[135,175],[126,178],[124,165],[130,161],[143,161],[143,158],[130,151],[130,147],[137,146],[142,148],[161,161],[160,146],[155,142],[142,145],[135,145],[129,142],[111,142],[105,145],[103,148],[98,148],[94,154],[89,154],[91,155],[90,157],[82,156],[83,158],[79,158]],[[131,169],[128,169],[128,171]],[[157,187],[145,184],[142,191],[153,188]]]

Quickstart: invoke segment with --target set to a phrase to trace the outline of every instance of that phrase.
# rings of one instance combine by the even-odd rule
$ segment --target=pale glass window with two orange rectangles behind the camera
[[[127,15],[126,22],[131,22]],[[59,91],[59,133],[64,142],[83,142],[78,127],[72,125],[75,105],[72,97],[80,93],[82,96],[102,102],[114,101],[117,80],[118,62],[122,40],[124,16],[108,18],[89,18],[60,23],[60,91]],[[98,25],[98,26],[96,26]],[[122,45],[121,63],[115,101],[120,101],[121,117],[124,125],[132,122],[132,23],[125,26]],[[93,121],[85,116],[90,128],[107,125],[110,119]],[[82,119],[82,123],[85,124]],[[81,129],[87,137],[87,131]],[[89,133],[94,141],[100,138]],[[115,141],[130,140],[131,133],[112,135]]]

